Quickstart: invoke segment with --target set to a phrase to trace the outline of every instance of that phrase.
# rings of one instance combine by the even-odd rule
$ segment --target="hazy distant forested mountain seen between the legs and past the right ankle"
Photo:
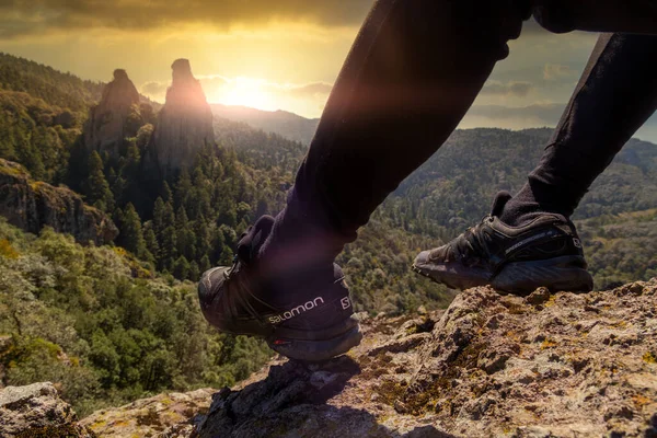
[[[500,189],[515,193],[539,162],[551,129],[469,129],[446,145],[395,192],[412,231],[460,230],[488,212]],[[657,207],[657,147],[631,140],[596,181],[575,219]],[[450,234],[451,235],[451,234]]]

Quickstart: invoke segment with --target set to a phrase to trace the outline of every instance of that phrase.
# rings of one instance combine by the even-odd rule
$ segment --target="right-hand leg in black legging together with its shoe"
[[[590,290],[569,217],[595,178],[657,107],[657,36],[600,37],[539,166],[515,196],[498,195],[482,223],[418,255],[414,268],[454,288],[492,284]]]

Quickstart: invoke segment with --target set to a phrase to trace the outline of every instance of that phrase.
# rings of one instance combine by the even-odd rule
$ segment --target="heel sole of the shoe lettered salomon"
[[[341,323],[339,326],[346,326],[347,330],[327,338],[322,338],[322,334],[331,334],[331,332],[335,332],[335,327],[314,332],[310,336],[308,332],[299,332],[299,337],[295,336],[293,331],[287,330],[285,334],[275,334],[269,337],[267,345],[274,351],[290,359],[308,362],[325,361],[344,355],[358,346],[362,339],[360,325],[355,319],[348,319],[344,323]]]

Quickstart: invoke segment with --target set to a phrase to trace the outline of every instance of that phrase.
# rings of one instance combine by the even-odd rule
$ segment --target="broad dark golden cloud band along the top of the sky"
[[[358,25],[371,0],[0,0],[0,38],[54,31],[143,31],[185,24],[230,27],[272,21]]]

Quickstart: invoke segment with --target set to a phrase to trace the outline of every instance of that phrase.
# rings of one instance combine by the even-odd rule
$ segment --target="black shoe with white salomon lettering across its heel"
[[[220,332],[264,338],[291,359],[323,361],[360,344],[349,290],[332,262],[286,268],[257,252],[274,218],[265,216],[238,244],[232,267],[216,267],[198,284],[200,309]]]

